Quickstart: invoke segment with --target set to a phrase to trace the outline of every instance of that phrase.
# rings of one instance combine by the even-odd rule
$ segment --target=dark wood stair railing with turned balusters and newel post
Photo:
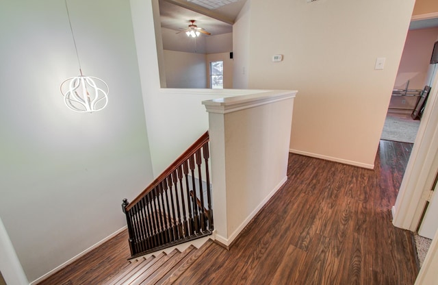
[[[213,232],[208,143],[205,132],[138,197],[123,199],[131,258]]]

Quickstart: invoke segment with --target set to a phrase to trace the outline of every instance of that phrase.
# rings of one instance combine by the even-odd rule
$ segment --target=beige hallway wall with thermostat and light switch
[[[234,36],[235,85],[246,67],[248,88],[299,90],[292,151],[372,168],[414,0],[248,2],[233,27],[250,47],[241,60],[248,44]],[[271,61],[277,53],[283,62]]]

